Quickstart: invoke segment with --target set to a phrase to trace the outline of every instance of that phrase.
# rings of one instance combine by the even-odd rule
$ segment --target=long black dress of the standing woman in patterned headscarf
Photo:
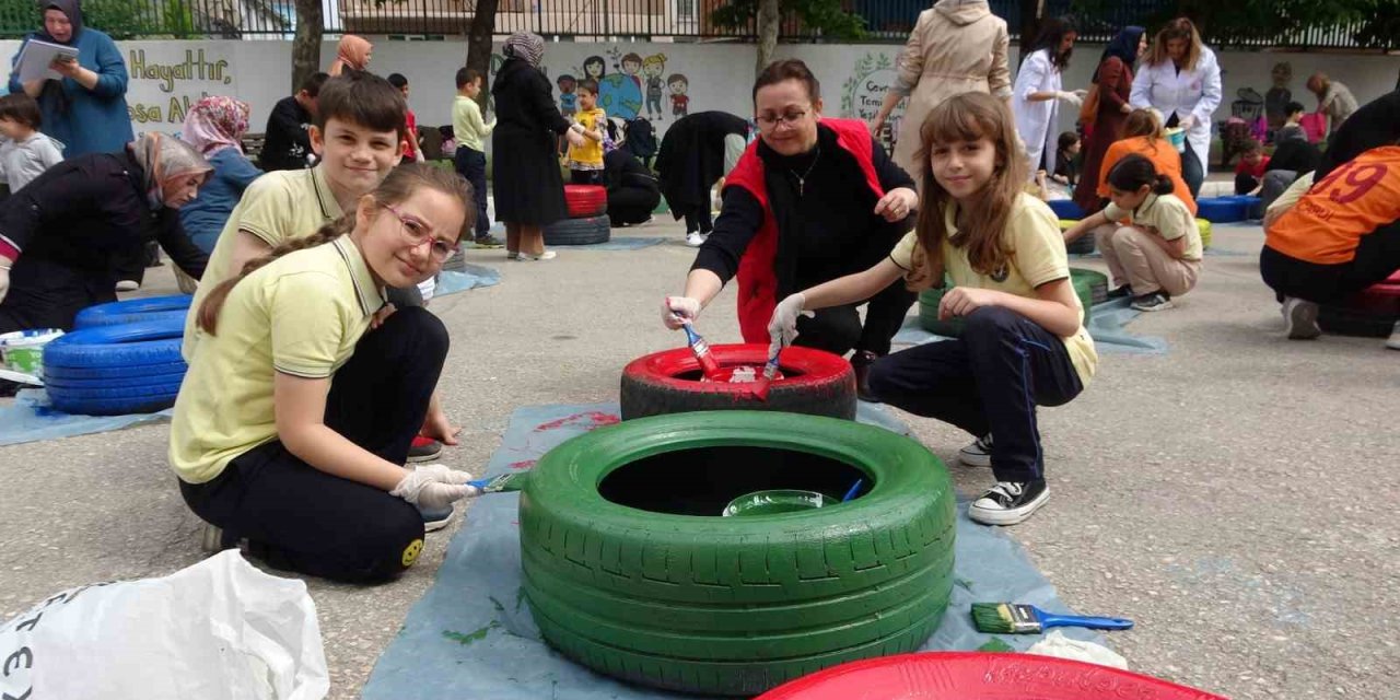
[[[559,171],[557,136],[568,120],[554,106],[549,80],[521,59],[510,59],[491,85],[496,132],[491,167],[496,218],[508,224],[546,225],[568,216]]]

